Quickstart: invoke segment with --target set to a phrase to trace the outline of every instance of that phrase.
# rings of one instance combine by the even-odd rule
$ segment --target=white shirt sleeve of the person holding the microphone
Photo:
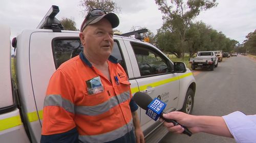
[[[240,111],[235,111],[222,118],[237,142],[256,142],[256,115],[246,116]]]

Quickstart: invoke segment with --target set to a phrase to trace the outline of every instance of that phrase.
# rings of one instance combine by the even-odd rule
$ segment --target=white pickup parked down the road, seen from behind
[[[198,51],[196,58],[189,58],[188,61],[193,70],[201,67],[213,71],[215,67],[218,67],[218,58],[214,51]]]

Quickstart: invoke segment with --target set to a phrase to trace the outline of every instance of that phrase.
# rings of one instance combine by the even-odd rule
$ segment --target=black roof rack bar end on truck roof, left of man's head
[[[55,17],[59,12],[59,7],[52,5],[49,11],[46,13],[45,17],[42,18],[41,22],[36,28],[39,29],[50,29],[53,32],[61,32],[63,30],[62,24]]]

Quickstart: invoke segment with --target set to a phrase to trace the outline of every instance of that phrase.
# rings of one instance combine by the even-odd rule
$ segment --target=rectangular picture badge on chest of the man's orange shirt
[[[100,77],[94,77],[86,81],[87,91],[89,95],[101,93],[104,91],[104,87],[101,83]]]

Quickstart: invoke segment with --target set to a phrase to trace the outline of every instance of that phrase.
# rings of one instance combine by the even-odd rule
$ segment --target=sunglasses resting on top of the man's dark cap
[[[96,17],[96,16],[102,16],[102,15],[105,15],[105,14],[107,14],[108,12],[107,11],[104,11],[104,10],[102,10],[102,9],[93,9],[93,10],[91,10],[88,14],[87,14],[87,16],[86,16],[86,18],[84,19],[84,21],[83,21],[83,23],[82,23],[82,25],[81,25],[81,32],[83,31],[83,29],[87,26],[87,25],[89,25],[95,18],[94,17]]]

